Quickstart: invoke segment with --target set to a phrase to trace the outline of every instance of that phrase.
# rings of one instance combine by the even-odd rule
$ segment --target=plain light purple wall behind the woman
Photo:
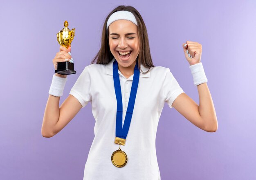
[[[99,50],[103,22],[118,5],[134,6],[144,18],[155,66],[171,72],[196,103],[198,90],[182,49],[202,44],[204,66],[218,117],[218,131],[205,132],[168,105],[157,131],[162,180],[256,179],[256,2],[87,0],[0,3],[0,179],[81,180],[94,134],[91,104],[56,136],[41,125],[59,50],[56,33],[76,28],[61,103]]]

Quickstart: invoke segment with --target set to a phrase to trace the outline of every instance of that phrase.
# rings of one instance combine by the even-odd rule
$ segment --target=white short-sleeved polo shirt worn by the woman
[[[70,90],[83,107],[90,101],[95,119],[94,140],[85,163],[83,180],[160,180],[155,138],[158,121],[166,102],[170,108],[182,92],[169,68],[155,66],[140,73],[137,95],[126,144],[128,157],[124,167],[115,167],[111,155],[115,144],[117,99],[113,80],[113,58],[108,64],[86,66]],[[148,70],[141,65],[141,70]],[[123,125],[133,75],[128,79],[119,72],[123,101]]]

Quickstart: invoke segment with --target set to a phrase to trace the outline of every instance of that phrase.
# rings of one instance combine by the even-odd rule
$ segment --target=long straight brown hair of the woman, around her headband
[[[130,11],[135,16],[135,18],[137,20],[140,48],[139,48],[139,55],[137,56],[136,60],[138,60],[139,70],[140,70],[141,64],[143,64],[143,66],[145,66],[148,69],[150,67],[155,67],[153,65],[152,58],[150,55],[148,33],[147,33],[145,23],[144,23],[141,15],[137,11],[137,9],[135,9],[132,6],[124,6],[124,5],[116,7],[107,16],[107,18],[104,22],[104,25],[103,25],[103,30],[102,30],[101,48],[100,48],[99,52],[97,53],[97,55],[92,60],[91,64],[94,64],[95,61],[96,61],[96,64],[108,64],[108,62],[110,62],[114,58],[114,56],[112,55],[112,53],[110,51],[110,47],[109,47],[109,42],[108,42],[109,40],[108,40],[108,33],[106,31],[106,24],[108,22],[108,18],[110,17],[110,15],[112,15],[112,13],[115,13],[117,11]],[[145,72],[145,73],[147,73],[147,72]]]

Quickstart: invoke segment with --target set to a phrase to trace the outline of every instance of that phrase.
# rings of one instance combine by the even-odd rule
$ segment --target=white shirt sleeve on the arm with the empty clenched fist
[[[173,108],[173,101],[183,92],[184,91],[171,73],[170,69],[167,68],[167,72],[162,86],[164,101],[168,104],[170,108]]]

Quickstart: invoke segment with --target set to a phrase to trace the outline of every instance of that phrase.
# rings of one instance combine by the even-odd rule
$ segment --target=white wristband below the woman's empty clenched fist
[[[189,66],[191,74],[193,75],[194,85],[198,86],[199,84],[206,83],[208,79],[204,73],[204,68],[202,62]]]

